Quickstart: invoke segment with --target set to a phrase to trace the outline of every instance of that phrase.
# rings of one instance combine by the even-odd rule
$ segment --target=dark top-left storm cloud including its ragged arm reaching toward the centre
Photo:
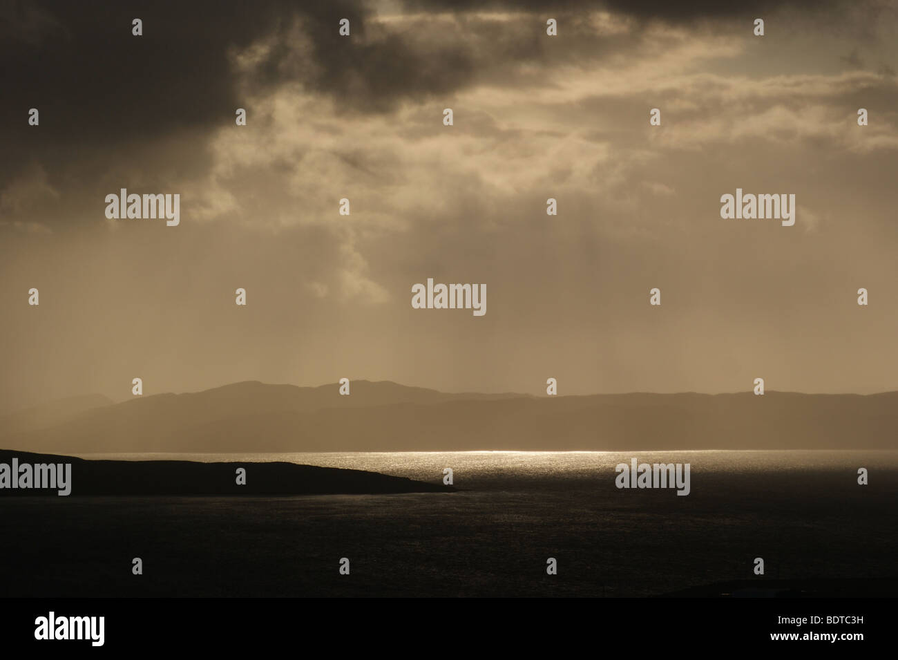
[[[6,127],[41,113],[44,139],[68,145],[148,138],[175,128],[206,130],[233,120],[236,95],[229,53],[276,36],[255,84],[299,80],[313,89],[361,90],[361,101],[444,91],[462,84],[458,52],[436,52],[442,63],[409,57],[399,35],[365,41],[368,11],[357,2],[72,3],[6,2],[0,9]],[[131,22],[144,22],[144,35]],[[353,35],[338,34],[348,18]],[[311,40],[313,61],[297,60],[290,30],[296,19]],[[357,81],[363,81],[359,86]],[[23,128],[22,131],[27,130]],[[22,132],[15,130],[14,132]]]

